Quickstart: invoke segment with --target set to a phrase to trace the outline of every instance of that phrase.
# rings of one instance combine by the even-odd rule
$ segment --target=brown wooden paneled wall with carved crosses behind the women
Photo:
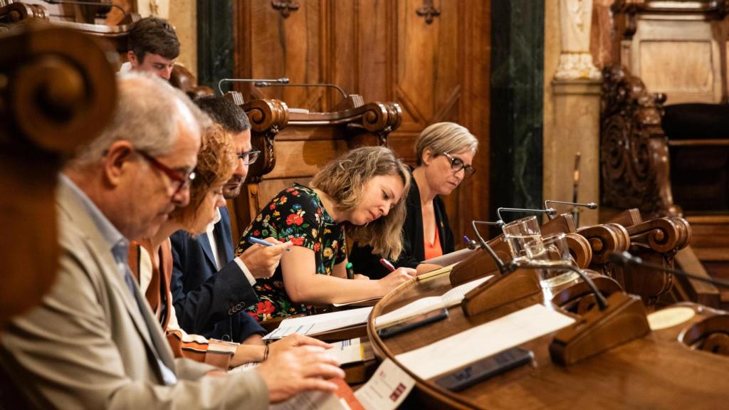
[[[490,9],[490,0],[235,1],[234,75],[330,82],[365,103],[399,103],[403,122],[388,144],[411,165],[427,125],[469,128],[480,140],[477,173],[445,201],[456,238],[472,236],[471,220],[488,218]],[[237,85],[246,101],[278,98],[312,111],[341,98],[328,88]]]

